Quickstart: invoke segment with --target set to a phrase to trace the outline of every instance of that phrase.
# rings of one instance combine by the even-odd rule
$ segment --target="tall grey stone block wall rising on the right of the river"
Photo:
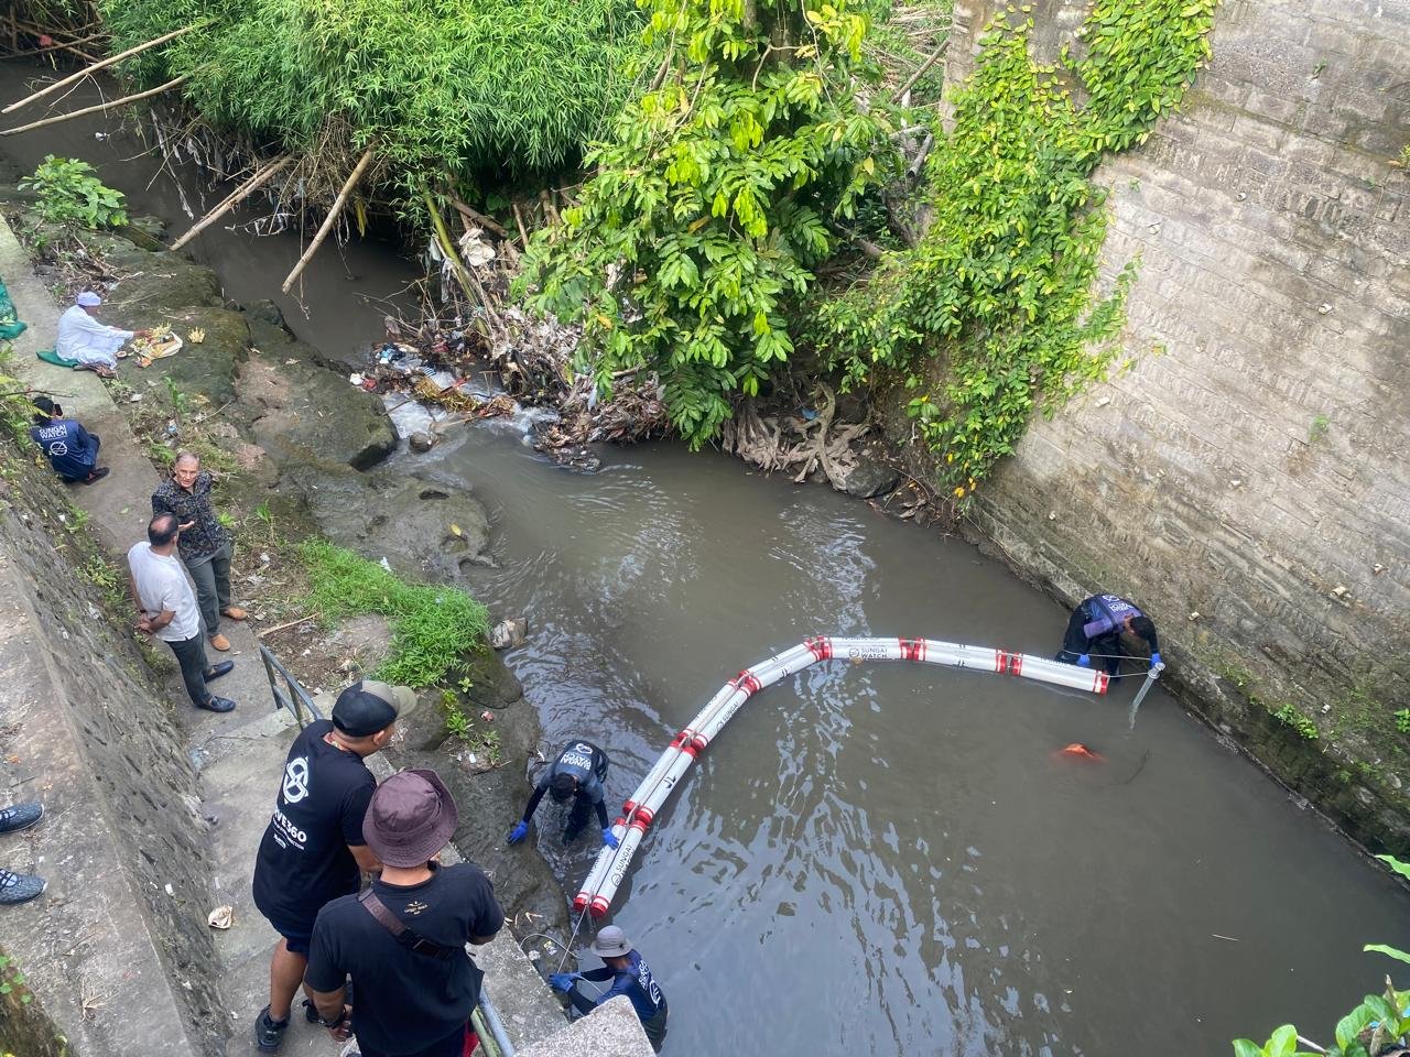
[[[956,1],[952,83],[995,8]],[[1038,0],[1035,58],[1089,8]],[[1265,761],[1307,740],[1269,731],[1296,705],[1327,760],[1275,769],[1403,851],[1375,727],[1410,705],[1410,4],[1225,0],[1213,48],[1180,113],[1097,173],[1107,276],[1139,258],[1134,365],[1035,420],[974,520],[1067,600],[1139,599],[1172,674]]]

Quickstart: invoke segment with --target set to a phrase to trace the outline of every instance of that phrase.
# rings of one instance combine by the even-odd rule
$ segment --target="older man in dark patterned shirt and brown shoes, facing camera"
[[[152,492],[152,516],[169,513],[180,523],[180,560],[196,583],[206,634],[212,647],[224,651],[230,640],[220,633],[220,617],[244,620],[245,610],[230,605],[234,544],[210,502],[210,472],[200,468],[200,457],[183,451],[172,465],[171,479]]]

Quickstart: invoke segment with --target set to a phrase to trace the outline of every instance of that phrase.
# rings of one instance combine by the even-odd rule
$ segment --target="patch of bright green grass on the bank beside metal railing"
[[[460,588],[407,583],[378,562],[326,540],[299,547],[309,571],[310,603],[324,623],[379,613],[391,622],[392,648],[374,674],[407,686],[430,686],[458,671],[482,647],[489,613]]]

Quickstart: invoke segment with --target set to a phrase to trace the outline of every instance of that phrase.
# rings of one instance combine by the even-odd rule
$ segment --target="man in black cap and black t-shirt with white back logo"
[[[361,875],[381,865],[362,839],[362,817],[376,789],[364,760],[386,747],[398,712],[415,700],[406,686],[355,682],[338,695],[333,722],[310,723],[289,750],[255,857],[255,906],[282,937],[269,963],[269,1005],[255,1018],[261,1053],[274,1053],[283,1041],[319,910],[357,892]]]

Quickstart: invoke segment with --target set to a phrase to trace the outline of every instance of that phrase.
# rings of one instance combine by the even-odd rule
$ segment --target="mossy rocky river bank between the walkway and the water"
[[[464,564],[486,560],[488,519],[468,483],[385,466],[398,438],[381,402],[295,338],[272,303],[230,302],[209,268],[164,252],[159,221],[85,233],[85,256],[75,261],[78,247],[32,213],[14,173],[0,175],[0,209],[61,295],[92,286],[106,300],[104,321],[171,326],[188,340],[145,371],[124,361],[110,393],[159,471],[190,448],[216,472],[217,507],[237,534],[233,576],[252,599],[252,626],[310,691],[336,691],[375,669],[392,636],[376,616],[334,629],[310,612],[300,540],[326,537],[413,581],[457,582]],[[457,846],[492,871],[510,915],[561,925],[553,874],[536,857],[509,857],[499,833],[527,795],[525,761],[541,750],[517,681],[482,644],[450,685],[422,696],[393,764],[436,767],[462,803],[478,805],[462,813]]]

